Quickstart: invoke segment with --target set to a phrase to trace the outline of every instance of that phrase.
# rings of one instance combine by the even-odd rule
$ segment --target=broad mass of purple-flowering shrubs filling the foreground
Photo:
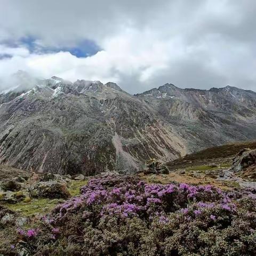
[[[255,255],[255,219],[253,190],[95,178],[42,219],[34,255]]]

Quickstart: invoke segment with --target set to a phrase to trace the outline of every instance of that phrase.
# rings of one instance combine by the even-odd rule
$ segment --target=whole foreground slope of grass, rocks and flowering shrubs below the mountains
[[[143,171],[130,176],[106,172],[93,178],[0,169],[1,256],[254,255],[256,249],[255,142],[215,147],[167,164],[150,159]],[[119,214],[123,217],[118,220]],[[235,231],[240,222],[246,229],[239,226]],[[182,225],[188,226],[187,235],[180,233]],[[165,234],[161,239],[158,228]],[[177,243],[171,243],[166,232]],[[239,233],[236,238],[227,235],[234,232]],[[200,242],[212,235],[227,246]],[[194,254],[189,254],[184,239],[195,246]],[[214,253],[207,254],[210,247]]]

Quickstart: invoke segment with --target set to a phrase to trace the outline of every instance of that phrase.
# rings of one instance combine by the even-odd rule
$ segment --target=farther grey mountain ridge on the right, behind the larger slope
[[[135,97],[153,107],[197,151],[256,138],[256,93],[236,87],[179,89],[165,84]]]

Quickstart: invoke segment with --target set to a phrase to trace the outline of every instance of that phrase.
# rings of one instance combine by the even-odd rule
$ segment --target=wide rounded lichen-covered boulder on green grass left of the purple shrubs
[[[70,193],[66,182],[40,181],[28,188],[31,197],[35,198],[68,198]]]

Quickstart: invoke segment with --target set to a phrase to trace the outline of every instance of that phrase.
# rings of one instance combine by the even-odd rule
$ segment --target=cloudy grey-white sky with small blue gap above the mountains
[[[255,0],[0,0],[0,78],[256,91],[255,13]]]

